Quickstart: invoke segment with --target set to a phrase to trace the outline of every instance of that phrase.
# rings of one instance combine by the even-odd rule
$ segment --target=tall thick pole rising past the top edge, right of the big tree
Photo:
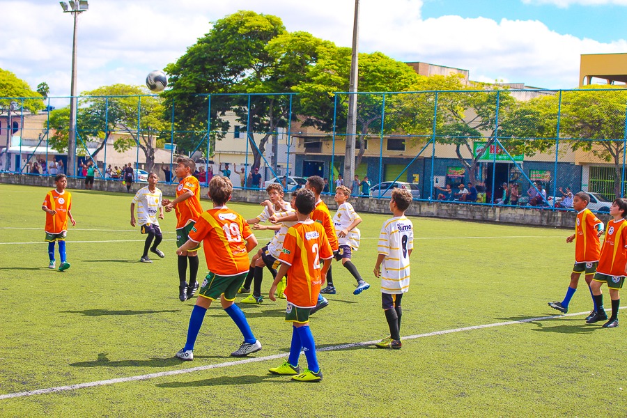
[[[348,118],[346,120],[346,152],[344,153],[344,182],[355,176],[355,139],[357,134],[357,75],[359,73],[359,0],[355,0],[353,22],[353,56],[350,60],[350,85],[348,87]]]

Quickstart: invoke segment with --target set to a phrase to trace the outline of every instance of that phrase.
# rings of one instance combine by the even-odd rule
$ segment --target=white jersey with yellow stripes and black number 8
[[[381,263],[381,292],[398,294],[409,290],[409,251],[414,248],[414,226],[405,216],[387,219],[381,228],[378,254]]]

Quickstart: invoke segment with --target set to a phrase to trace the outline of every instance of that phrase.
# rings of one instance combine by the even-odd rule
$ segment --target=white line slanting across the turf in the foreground
[[[624,309],[624,308],[627,308],[627,307],[621,307],[621,309]],[[426,334],[416,334],[416,335],[410,335],[410,336],[403,336],[403,340],[424,338],[426,336],[437,336],[437,335],[444,335],[444,334],[452,334],[454,332],[482,330],[483,328],[502,327],[504,325],[524,324],[524,323],[536,322],[536,321],[539,321],[539,320],[548,320],[548,319],[562,318],[562,317],[566,317],[566,316],[580,316],[580,315],[584,315],[584,314],[588,314],[588,313],[589,312],[586,311],[586,312],[578,312],[576,314],[539,316],[538,318],[527,318],[527,319],[521,319],[521,320],[510,320],[510,321],[506,321],[506,322],[502,322],[502,323],[473,325],[473,326],[470,326],[470,327],[454,328],[453,330],[442,330],[442,331],[427,332]],[[352,348],[352,347],[359,347],[359,346],[371,346],[374,343],[378,343],[378,342],[379,342],[379,340],[373,340],[373,341],[364,341],[362,343],[339,344],[338,346],[330,346],[330,347],[325,347],[325,348],[318,348],[317,351],[334,351],[334,350],[342,350],[343,348]],[[50,393],[56,393],[56,392],[65,392],[65,391],[68,391],[68,390],[84,389],[86,387],[114,385],[116,383],[133,382],[135,380],[148,380],[148,379],[154,379],[154,378],[162,378],[164,376],[176,376],[176,375],[184,374],[184,373],[193,373],[194,371],[222,369],[224,367],[238,366],[240,364],[265,362],[266,360],[272,360],[272,359],[281,359],[281,358],[284,358],[285,356],[286,356],[286,353],[268,355],[268,356],[264,356],[264,357],[254,357],[254,358],[251,357],[251,358],[247,358],[247,359],[235,360],[233,362],[225,362],[225,363],[219,363],[219,364],[208,364],[206,366],[192,367],[190,369],[161,371],[159,373],[149,373],[149,374],[139,375],[139,376],[129,376],[127,378],[96,380],[95,382],[78,383],[77,385],[56,386],[56,387],[48,387],[46,389],[30,390],[30,391],[26,391],[26,392],[15,392],[13,394],[3,394],[3,395],[0,395],[0,400],[2,400],[2,399],[9,399],[9,398],[21,398],[23,396],[33,396],[33,395],[50,394]]]

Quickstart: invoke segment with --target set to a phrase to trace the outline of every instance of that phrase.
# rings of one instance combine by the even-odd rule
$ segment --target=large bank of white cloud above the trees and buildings
[[[210,30],[210,22],[237,10],[277,15],[288,31],[308,31],[337,45],[351,45],[352,0],[147,4],[91,0],[90,9],[79,15],[79,91],[115,83],[143,84],[150,70],[164,68],[185,54]],[[362,0],[360,50],[464,68],[470,70],[471,79],[548,88],[577,86],[580,54],[627,50],[626,40],[579,39],[550,31],[537,21],[495,22],[454,15],[421,20],[421,6],[417,0]],[[42,6],[36,0],[3,1],[2,10],[8,19],[0,26],[0,68],[15,72],[33,88],[45,81],[52,95],[69,95],[72,15],[62,13],[54,2]]]

